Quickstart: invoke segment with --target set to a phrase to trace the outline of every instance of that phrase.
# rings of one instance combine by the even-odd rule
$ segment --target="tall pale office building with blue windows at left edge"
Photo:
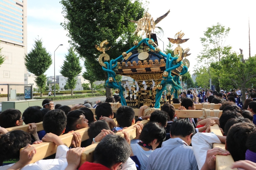
[[[5,61],[0,65],[0,84],[24,84],[27,73],[27,0],[0,0],[0,48]],[[7,86],[0,87],[7,93]]]

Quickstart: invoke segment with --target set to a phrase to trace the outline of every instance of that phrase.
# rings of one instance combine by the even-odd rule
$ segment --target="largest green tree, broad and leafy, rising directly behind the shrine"
[[[128,19],[139,20],[143,16],[142,1],[61,0],[61,4],[65,18],[61,25],[68,31],[69,43],[86,61],[86,70],[91,67],[96,80],[106,80],[108,75],[97,62],[101,52],[95,49],[95,44],[108,40],[111,48],[107,54],[113,59],[133,47],[134,40],[140,41],[133,33],[136,24]],[[108,88],[106,96],[110,95]]]

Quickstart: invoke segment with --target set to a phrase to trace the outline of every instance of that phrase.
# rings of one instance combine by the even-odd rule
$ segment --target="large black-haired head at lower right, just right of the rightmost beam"
[[[234,161],[245,160],[246,141],[248,135],[255,129],[254,124],[245,122],[231,126],[229,133],[227,133],[225,149],[230,152]]]

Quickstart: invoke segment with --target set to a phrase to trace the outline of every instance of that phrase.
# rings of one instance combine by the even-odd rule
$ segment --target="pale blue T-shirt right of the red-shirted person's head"
[[[140,169],[146,170],[146,166],[148,163],[148,157],[153,152],[153,150],[145,151],[142,147],[136,143],[131,144],[133,155],[137,156],[140,161]]]

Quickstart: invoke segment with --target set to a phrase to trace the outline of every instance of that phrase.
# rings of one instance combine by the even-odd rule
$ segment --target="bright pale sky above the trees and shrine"
[[[163,28],[164,34],[159,36],[159,48],[165,49],[169,43],[167,37],[181,31],[185,33],[184,39],[189,38],[186,43],[181,44],[183,49],[190,48],[189,71],[193,73],[196,64],[196,56],[203,50],[200,37],[203,37],[207,27],[221,23],[226,28],[230,27],[230,33],[225,41],[225,46],[232,46],[232,50],[240,54],[239,48],[243,50],[244,58],[249,57],[248,20],[250,20],[251,55],[256,54],[256,15],[253,0],[147,0],[148,12],[154,18],[162,16],[169,9],[169,15],[157,24]],[[27,51],[33,48],[34,40],[39,37],[43,45],[54,60],[55,51],[55,75],[60,75],[60,66],[63,64],[64,56],[68,52],[69,38],[67,31],[60,25],[64,21],[62,5],[59,0],[27,0]],[[176,44],[173,46],[177,47]],[[129,50],[129,49],[127,49]],[[120,52],[121,55],[122,52]],[[54,63],[54,62],[53,62]],[[80,60],[81,66],[83,61]],[[83,67],[83,71],[85,71]],[[54,75],[54,64],[46,71],[47,76]]]

